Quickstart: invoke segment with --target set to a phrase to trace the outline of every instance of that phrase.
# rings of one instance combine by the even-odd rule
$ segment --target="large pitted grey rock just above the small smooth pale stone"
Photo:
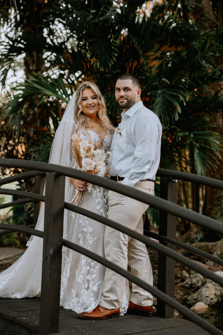
[[[212,306],[220,302],[222,297],[223,290],[221,286],[208,279],[202,288],[187,297],[187,303],[189,305],[195,305],[198,302],[203,302],[208,306]]]

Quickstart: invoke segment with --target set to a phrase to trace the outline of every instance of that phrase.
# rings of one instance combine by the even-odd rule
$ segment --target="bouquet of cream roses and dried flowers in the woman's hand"
[[[111,152],[102,148],[103,142],[95,142],[80,139],[80,135],[72,135],[71,141],[71,152],[76,160],[79,169],[92,173],[100,177],[109,177],[109,166],[107,162],[111,157]],[[88,184],[87,187],[89,192],[93,194],[93,185]],[[78,191],[72,201],[74,205],[80,206],[83,191]]]

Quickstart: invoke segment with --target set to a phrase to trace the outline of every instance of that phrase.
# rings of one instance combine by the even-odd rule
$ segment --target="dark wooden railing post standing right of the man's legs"
[[[160,178],[160,198],[177,203],[177,180],[171,178]],[[176,239],[176,216],[160,211],[159,212],[159,235]],[[169,248],[176,250],[176,247],[159,242]],[[175,295],[175,260],[158,252],[158,280],[157,288],[163,293],[174,298]],[[173,318],[174,309],[157,299],[157,315],[162,318]]]

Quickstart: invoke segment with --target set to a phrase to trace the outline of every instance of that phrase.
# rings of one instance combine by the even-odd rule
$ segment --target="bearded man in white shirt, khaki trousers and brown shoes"
[[[160,159],[162,126],[158,117],[143,106],[138,78],[121,75],[115,87],[115,98],[123,109],[122,121],[116,128],[112,144],[111,179],[136,190],[154,195],[154,179]],[[142,214],[148,205],[124,195],[108,191],[108,218],[143,233]],[[145,244],[106,226],[105,257],[153,285],[152,268]],[[80,314],[84,319],[118,317],[124,297],[126,279],[106,269],[99,305],[91,312]],[[151,293],[132,283],[128,311],[152,316]],[[128,300],[127,300],[128,301]]]

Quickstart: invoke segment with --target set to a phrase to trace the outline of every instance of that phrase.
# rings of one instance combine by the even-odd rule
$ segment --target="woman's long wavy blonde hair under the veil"
[[[84,89],[90,88],[97,97],[99,103],[99,110],[97,112],[96,119],[101,124],[101,126],[108,131],[110,134],[114,133],[114,127],[112,126],[106,111],[105,101],[101,94],[99,87],[91,82],[91,81],[84,81],[81,83],[76,91],[76,106],[74,108],[74,121],[75,121],[75,129],[74,132],[76,133],[79,128],[82,129],[84,133],[87,134],[91,125],[89,123],[89,118],[82,112],[81,102],[82,102],[82,92]]]

